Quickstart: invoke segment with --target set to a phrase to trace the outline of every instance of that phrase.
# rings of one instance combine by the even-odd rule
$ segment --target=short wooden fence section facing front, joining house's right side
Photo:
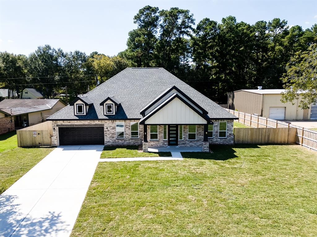
[[[294,144],[296,128],[235,128],[235,143]]]

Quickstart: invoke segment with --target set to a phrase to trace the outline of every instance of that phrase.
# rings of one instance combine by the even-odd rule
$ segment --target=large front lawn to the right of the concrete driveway
[[[211,149],[183,161],[100,162],[71,236],[317,236],[317,153]]]

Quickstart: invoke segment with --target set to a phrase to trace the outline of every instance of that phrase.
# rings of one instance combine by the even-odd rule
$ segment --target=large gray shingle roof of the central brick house
[[[48,119],[141,119],[140,110],[174,85],[208,111],[211,119],[236,119],[236,116],[164,68],[126,68],[85,94],[94,103],[89,107],[87,115],[75,116],[73,106],[66,106]],[[115,115],[104,115],[103,107],[100,106],[100,102],[108,96],[115,96],[120,101]]]

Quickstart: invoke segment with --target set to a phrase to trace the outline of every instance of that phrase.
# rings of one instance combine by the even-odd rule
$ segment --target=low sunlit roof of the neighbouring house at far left
[[[59,99],[5,99],[0,102],[0,110],[19,115],[51,109]]]

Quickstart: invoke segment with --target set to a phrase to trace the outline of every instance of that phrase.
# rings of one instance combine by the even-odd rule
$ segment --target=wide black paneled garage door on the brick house
[[[103,127],[59,127],[60,145],[103,145]]]

